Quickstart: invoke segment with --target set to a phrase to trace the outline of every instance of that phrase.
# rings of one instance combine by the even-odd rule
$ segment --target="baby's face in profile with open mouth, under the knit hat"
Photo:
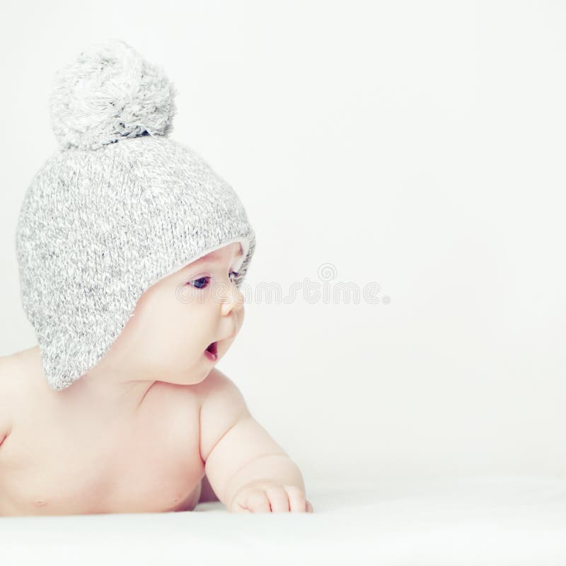
[[[243,323],[243,295],[233,282],[241,254],[240,243],[231,243],[147,289],[94,371],[123,381],[200,383]],[[218,342],[216,361],[204,354],[211,342]]]

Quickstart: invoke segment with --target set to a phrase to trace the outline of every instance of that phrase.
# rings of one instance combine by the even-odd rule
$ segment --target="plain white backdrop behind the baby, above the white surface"
[[[251,298],[219,369],[307,490],[564,478],[565,29],[541,0],[3,3],[0,354],[37,343],[14,236],[57,149],[54,72],[120,37],[246,207]],[[379,303],[258,293],[322,285],[323,264]]]

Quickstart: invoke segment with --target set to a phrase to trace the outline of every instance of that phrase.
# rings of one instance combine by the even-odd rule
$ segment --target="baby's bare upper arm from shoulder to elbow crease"
[[[207,461],[219,440],[234,424],[251,417],[236,383],[213,368],[198,384],[200,395],[200,454]]]

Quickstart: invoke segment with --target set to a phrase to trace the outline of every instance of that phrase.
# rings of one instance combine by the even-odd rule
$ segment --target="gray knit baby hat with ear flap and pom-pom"
[[[118,39],[57,72],[59,151],[25,193],[16,228],[22,305],[50,388],[104,356],[159,279],[240,242],[241,287],[255,236],[236,192],[168,138],[175,87]]]

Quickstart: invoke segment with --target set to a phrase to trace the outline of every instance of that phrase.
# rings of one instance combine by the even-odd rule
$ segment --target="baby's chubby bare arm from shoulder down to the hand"
[[[229,511],[238,512],[242,507],[236,495],[265,489],[267,495],[271,492],[279,498],[278,510],[282,510],[285,494],[289,494],[291,508],[287,510],[310,510],[310,503],[305,505],[301,471],[250,415],[236,385],[218,370],[204,381],[209,379],[200,415],[200,449],[207,478],[220,501]],[[257,510],[262,510],[261,493],[253,495],[257,496]],[[298,509],[301,504],[303,508]],[[264,510],[270,511],[269,505]]]

